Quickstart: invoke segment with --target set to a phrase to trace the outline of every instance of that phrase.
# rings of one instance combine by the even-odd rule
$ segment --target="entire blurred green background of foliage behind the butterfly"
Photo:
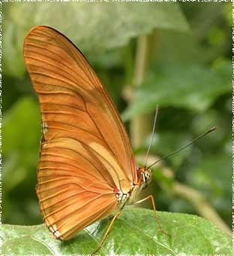
[[[176,193],[174,185],[183,184],[231,227],[231,15],[231,2],[4,3],[3,223],[42,222],[35,194],[40,113],[23,38],[32,26],[47,25],[89,59],[125,120],[139,163],[157,104],[150,160],[217,126],[154,166],[145,194],[154,194],[157,210],[200,214],[192,198]]]

